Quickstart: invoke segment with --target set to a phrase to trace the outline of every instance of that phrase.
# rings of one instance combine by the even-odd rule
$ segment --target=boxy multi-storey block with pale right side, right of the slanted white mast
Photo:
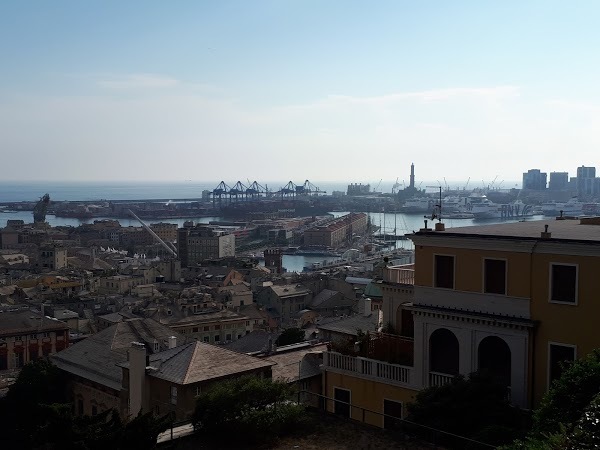
[[[177,254],[183,267],[207,259],[235,256],[235,235],[215,231],[207,226],[179,228],[177,230]]]

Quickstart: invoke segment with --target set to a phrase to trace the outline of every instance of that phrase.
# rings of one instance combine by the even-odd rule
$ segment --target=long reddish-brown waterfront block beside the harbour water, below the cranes
[[[365,213],[350,213],[304,232],[304,245],[337,248],[367,230]]]

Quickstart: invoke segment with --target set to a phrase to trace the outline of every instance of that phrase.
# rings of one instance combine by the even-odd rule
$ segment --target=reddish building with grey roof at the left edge
[[[64,322],[28,309],[0,313],[0,370],[19,369],[68,346]]]

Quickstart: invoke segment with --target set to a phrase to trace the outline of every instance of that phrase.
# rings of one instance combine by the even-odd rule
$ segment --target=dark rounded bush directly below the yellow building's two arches
[[[408,420],[493,445],[521,437],[523,413],[506,399],[506,387],[487,373],[455,377],[420,391],[408,404]]]

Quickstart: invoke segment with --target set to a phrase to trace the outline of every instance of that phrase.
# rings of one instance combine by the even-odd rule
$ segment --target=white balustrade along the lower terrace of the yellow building
[[[337,352],[323,353],[323,369],[330,372],[353,375],[371,381],[413,387],[413,368],[390,364],[361,356],[342,355]]]

